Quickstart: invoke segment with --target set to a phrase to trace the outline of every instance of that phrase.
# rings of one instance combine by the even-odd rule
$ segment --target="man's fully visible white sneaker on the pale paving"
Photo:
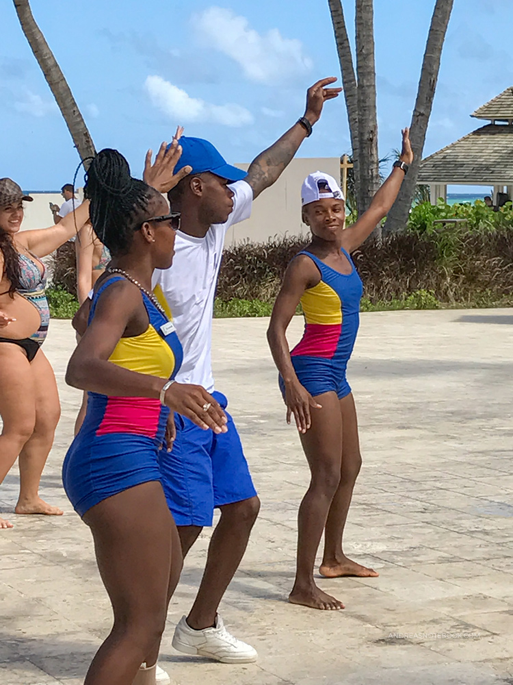
[[[185,654],[207,656],[223,664],[250,664],[258,657],[250,645],[228,633],[219,614],[215,626],[204,630],[193,630],[183,616],[174,630],[172,645]]]

